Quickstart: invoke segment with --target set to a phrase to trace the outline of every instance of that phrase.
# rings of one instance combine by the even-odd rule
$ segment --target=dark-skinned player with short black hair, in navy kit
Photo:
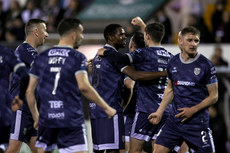
[[[125,30],[119,24],[109,24],[104,29],[106,44],[104,48],[110,52],[118,52],[125,47]],[[92,85],[100,96],[113,108],[117,114],[108,119],[104,111],[90,103],[90,117],[94,152],[119,152],[124,149],[124,116],[121,107],[124,75],[123,65],[95,56],[92,70]]]

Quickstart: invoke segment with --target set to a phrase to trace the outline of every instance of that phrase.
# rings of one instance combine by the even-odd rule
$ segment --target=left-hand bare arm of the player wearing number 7
[[[34,119],[35,129],[38,129],[38,118],[39,118],[37,102],[36,102],[35,94],[34,94],[37,84],[38,84],[38,79],[33,76],[30,76],[29,86],[26,90],[26,99],[27,99],[27,102],[30,108],[30,112]]]

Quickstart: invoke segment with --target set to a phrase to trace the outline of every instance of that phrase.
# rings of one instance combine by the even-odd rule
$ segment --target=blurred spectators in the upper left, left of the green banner
[[[47,22],[49,33],[56,33],[62,18],[76,17],[90,0],[20,0],[0,1],[0,41],[14,42],[24,40],[24,26],[31,18]],[[5,6],[5,3],[9,3]]]

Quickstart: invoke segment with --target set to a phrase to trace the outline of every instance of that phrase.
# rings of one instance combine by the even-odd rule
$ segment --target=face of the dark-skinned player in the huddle
[[[122,27],[117,29],[117,33],[114,36],[113,42],[117,48],[125,47],[126,36],[125,36],[125,30]]]

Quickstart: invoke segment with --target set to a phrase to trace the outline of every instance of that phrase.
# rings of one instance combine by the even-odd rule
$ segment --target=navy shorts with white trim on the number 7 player
[[[36,147],[44,151],[53,149],[60,153],[88,151],[85,125],[72,128],[38,127]]]

